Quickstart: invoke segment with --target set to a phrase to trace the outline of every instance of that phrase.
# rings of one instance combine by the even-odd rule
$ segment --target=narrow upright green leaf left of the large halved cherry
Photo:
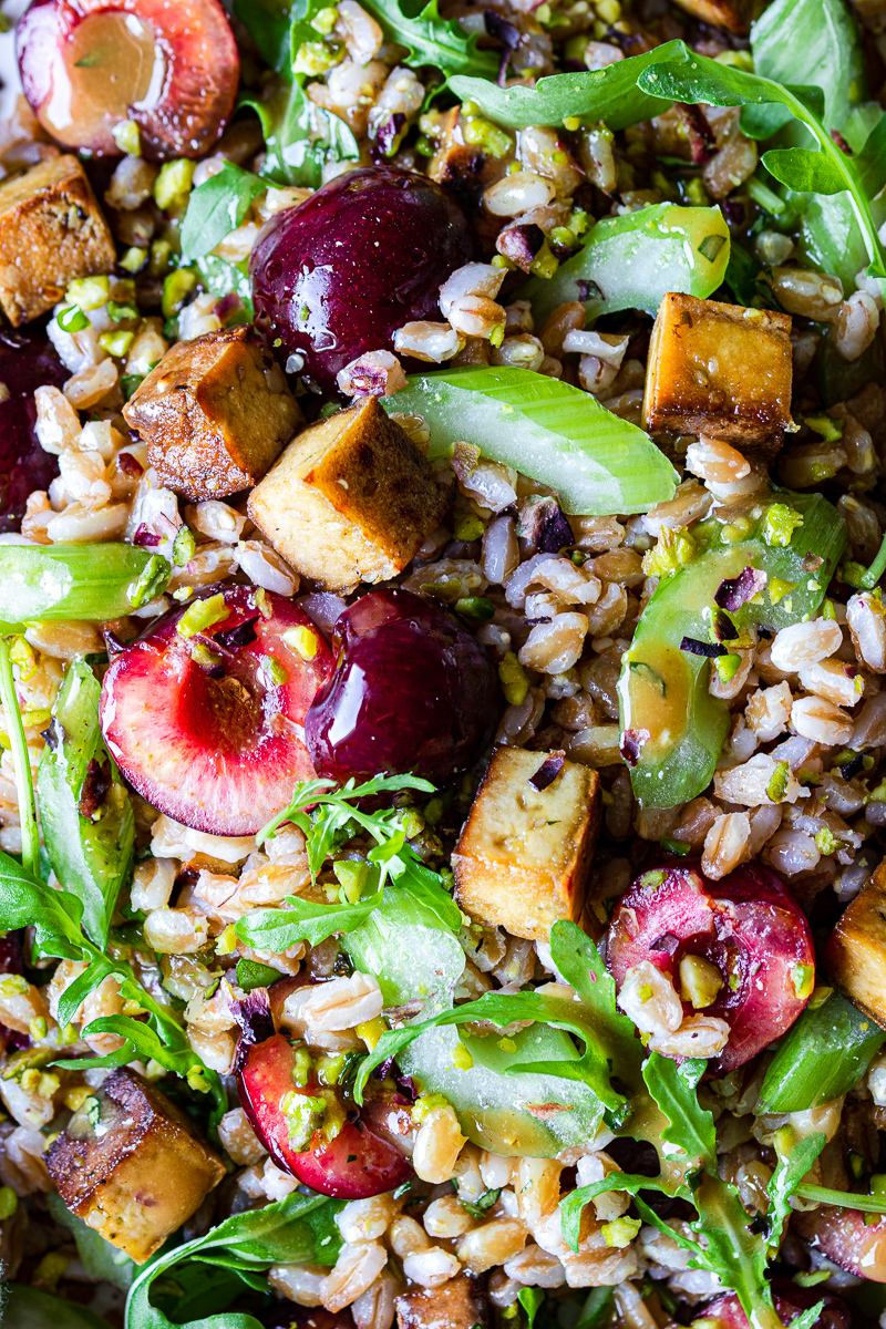
[[[101,688],[82,658],[68,666],[37,772],[44,843],[60,881],[82,904],[82,925],[98,945],[129,876],[133,807],[101,736]]]

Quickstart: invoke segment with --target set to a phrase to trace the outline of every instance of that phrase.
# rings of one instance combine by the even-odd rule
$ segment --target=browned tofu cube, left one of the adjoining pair
[[[283,371],[246,327],[179,342],[124,415],[159,482],[194,501],[256,485],[304,423]]]

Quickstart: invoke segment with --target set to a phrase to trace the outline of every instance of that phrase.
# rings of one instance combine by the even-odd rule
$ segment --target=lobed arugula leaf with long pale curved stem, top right
[[[764,166],[769,169],[772,161],[776,178],[798,191],[804,191],[814,178],[829,186],[828,193],[833,193],[834,181],[840,177],[870,259],[869,275],[886,278],[886,253],[865,190],[867,173],[875,169],[879,159],[879,138],[870,145],[870,153],[867,145],[858,157],[842,153],[822,122],[824,94],[820,88],[782,86],[770,78],[696,54],[688,47],[683,47],[679,60],[643,70],[638,81],[644,92],[673,101],[749,108],[741,124],[745,133],[756,138],[769,138],[792,118],[805,126],[829,165],[822,162],[816,169],[817,174],[810,174],[809,149],[793,148],[765,153]],[[758,113],[761,106],[766,108],[762,116]],[[774,116],[769,110],[773,106],[777,108]]]

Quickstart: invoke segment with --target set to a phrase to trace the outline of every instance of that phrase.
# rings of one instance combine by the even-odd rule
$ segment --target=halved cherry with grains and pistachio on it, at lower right
[[[620,987],[628,969],[651,961],[680,987],[680,961],[701,956],[723,986],[704,1007],[729,1025],[729,1042],[708,1069],[725,1075],[789,1029],[813,989],[809,925],[784,885],[756,865],[708,881],[696,868],[644,872],[612,914],[607,966]],[[685,1006],[692,1014],[692,1006]]]

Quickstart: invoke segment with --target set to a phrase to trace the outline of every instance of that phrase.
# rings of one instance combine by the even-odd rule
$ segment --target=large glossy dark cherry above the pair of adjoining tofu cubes
[[[446,278],[478,258],[461,206],[440,185],[393,166],[329,181],[278,213],[250,260],[256,322],[324,392],[364,351],[393,350],[404,323],[438,322]]]

